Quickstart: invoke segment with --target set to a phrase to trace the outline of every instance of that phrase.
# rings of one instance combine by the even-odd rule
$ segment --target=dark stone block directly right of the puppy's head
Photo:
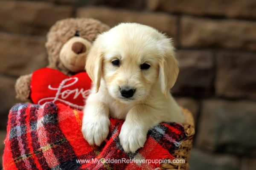
[[[213,93],[214,63],[209,51],[177,51],[180,73],[172,91],[178,95],[193,97]]]

